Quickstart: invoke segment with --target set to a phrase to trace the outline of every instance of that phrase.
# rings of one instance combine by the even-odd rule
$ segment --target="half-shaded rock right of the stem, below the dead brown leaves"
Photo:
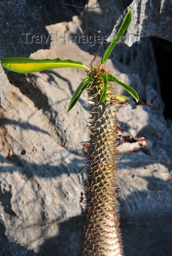
[[[138,253],[171,255],[172,176],[160,163],[144,166],[142,154],[136,153],[135,156],[139,167],[131,168],[128,163],[129,167],[120,169],[119,202],[124,253],[127,256],[137,256]],[[128,158],[132,161],[131,156]]]

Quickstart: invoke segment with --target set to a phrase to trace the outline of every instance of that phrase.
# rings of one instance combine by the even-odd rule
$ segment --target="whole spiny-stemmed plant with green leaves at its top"
[[[11,71],[28,73],[51,68],[85,68],[87,77],[80,83],[68,106],[69,112],[87,89],[90,97],[91,121],[88,142],[88,172],[85,184],[85,209],[83,231],[79,254],[81,256],[120,256],[123,255],[119,220],[117,214],[117,95],[113,82],[126,89],[138,102],[135,90],[120,82],[103,67],[114,46],[120,41],[132,19],[128,10],[123,23],[104,53],[100,65],[90,68],[79,61],[12,57],[1,64]]]

